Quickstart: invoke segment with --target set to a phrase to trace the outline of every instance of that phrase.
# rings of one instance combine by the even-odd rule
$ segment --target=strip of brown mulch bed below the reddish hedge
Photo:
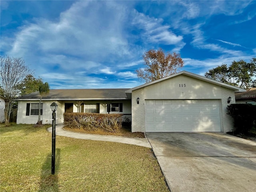
[[[96,130],[96,131],[91,131],[91,130],[84,130],[84,129],[77,129],[77,128],[69,128],[69,127],[64,127],[65,130],[68,131],[74,131],[74,132],[80,132],[80,133],[87,133],[87,134],[97,134],[97,135],[112,135],[112,136],[123,136],[123,137],[138,137],[138,138],[145,138],[145,135],[143,132],[131,132],[130,127],[122,127],[120,129],[120,132],[115,133],[115,132],[108,132],[104,130]]]

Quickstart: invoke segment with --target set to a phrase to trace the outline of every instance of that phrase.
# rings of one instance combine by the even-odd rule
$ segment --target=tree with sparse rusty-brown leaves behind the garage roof
[[[184,61],[180,54],[164,52],[162,48],[149,50],[142,55],[145,68],[135,70],[138,78],[148,83],[179,72]]]

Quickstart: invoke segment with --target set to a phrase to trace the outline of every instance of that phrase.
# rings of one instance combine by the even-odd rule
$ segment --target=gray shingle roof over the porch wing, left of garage
[[[53,89],[42,99],[53,100],[88,100],[88,99],[127,99],[128,89]],[[24,95],[20,100],[40,99],[39,92]]]

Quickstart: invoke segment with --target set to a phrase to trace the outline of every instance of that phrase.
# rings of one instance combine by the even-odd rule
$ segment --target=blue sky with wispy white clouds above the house
[[[51,89],[132,88],[142,54],[179,53],[186,70],[256,57],[256,1],[0,1],[1,56]]]

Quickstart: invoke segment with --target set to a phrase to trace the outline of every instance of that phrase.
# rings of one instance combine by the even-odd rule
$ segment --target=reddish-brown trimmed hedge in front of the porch
[[[70,128],[119,132],[122,127],[121,116],[122,114],[64,113],[64,122]]]

